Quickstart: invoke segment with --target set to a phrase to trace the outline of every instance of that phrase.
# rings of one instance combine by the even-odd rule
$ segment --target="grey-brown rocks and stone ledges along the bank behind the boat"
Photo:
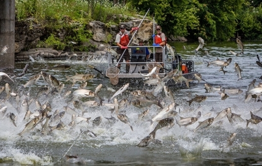
[[[123,17],[123,16],[118,16]],[[123,22],[127,29],[138,26],[142,21],[143,16],[137,15],[129,19],[128,22]],[[103,55],[103,51],[106,47],[110,47],[115,43],[115,36],[119,32],[118,25],[106,25],[100,21],[92,21],[87,25],[87,29],[92,32],[92,38],[88,42],[83,44],[87,47],[95,48],[92,52],[72,52],[73,47],[66,47],[64,50],[57,51],[52,48],[38,48],[38,43],[41,40],[47,38],[49,34],[46,27],[34,20],[34,18],[28,18],[25,21],[16,21],[15,24],[15,60],[28,59],[29,56],[35,58],[42,56],[43,58],[64,58],[70,57],[72,54],[78,56],[88,55]],[[56,29],[56,35],[59,39],[64,39],[67,34],[65,29]],[[139,30],[133,37],[130,46],[137,46],[138,40],[143,39],[145,45],[153,34],[153,22],[149,19],[144,19]],[[108,41],[108,37],[110,38]],[[186,41],[184,37],[168,36],[169,41]],[[148,44],[148,43],[147,43]],[[69,46],[69,44],[68,44]]]

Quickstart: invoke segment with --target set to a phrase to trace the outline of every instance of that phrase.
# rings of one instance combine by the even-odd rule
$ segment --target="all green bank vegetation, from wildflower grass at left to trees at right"
[[[208,41],[223,41],[241,36],[244,40],[262,39],[262,6],[259,0],[16,0],[16,19],[33,18],[49,31],[39,47],[65,47],[68,41],[84,43],[92,37],[86,27],[90,21],[107,26],[119,25],[136,14],[162,26],[167,35]],[[117,17],[118,15],[123,17]],[[57,29],[68,29],[64,40]],[[86,48],[79,46],[78,50]]]

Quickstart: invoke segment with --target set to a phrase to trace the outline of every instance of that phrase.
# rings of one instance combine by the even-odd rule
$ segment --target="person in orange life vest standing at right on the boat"
[[[153,34],[153,37],[155,37],[155,43],[153,46],[162,46],[164,47],[166,45],[166,35],[161,31],[161,26],[156,26],[157,34]],[[163,62],[163,49],[161,47],[156,48],[156,54],[155,54],[156,62]],[[163,63],[161,64],[164,65]]]

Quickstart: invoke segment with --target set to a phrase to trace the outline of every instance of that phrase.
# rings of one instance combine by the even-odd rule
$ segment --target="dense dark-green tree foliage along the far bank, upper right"
[[[138,11],[150,7],[150,14],[168,35],[213,41],[235,38],[241,32],[247,39],[261,38],[259,0],[130,0],[130,5]]]

